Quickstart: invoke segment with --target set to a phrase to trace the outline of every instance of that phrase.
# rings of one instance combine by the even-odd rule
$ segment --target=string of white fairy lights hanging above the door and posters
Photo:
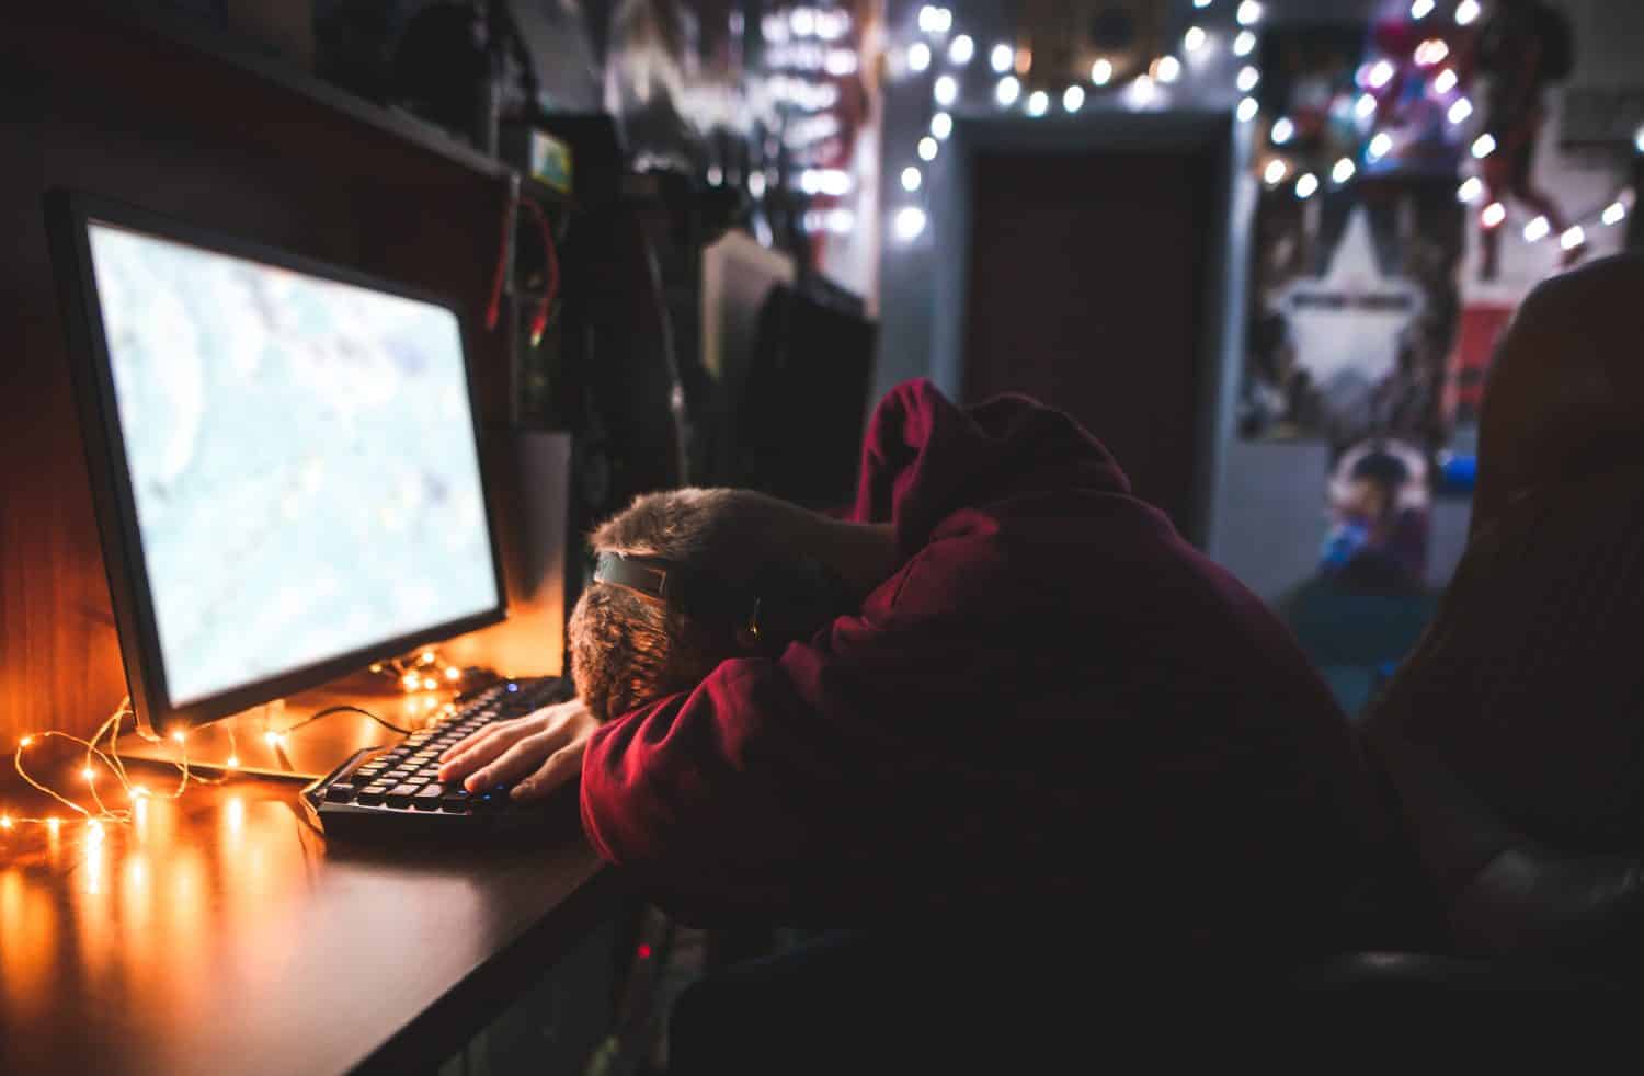
[[[1167,89],[1179,82],[1187,71],[1187,62],[1218,46],[1221,33],[1230,34],[1228,49],[1240,61],[1235,64],[1233,90],[1236,102],[1233,115],[1240,123],[1254,123],[1261,117],[1261,102],[1254,95],[1261,84],[1261,67],[1254,56],[1259,44],[1259,26],[1266,16],[1266,7],[1259,0],[1192,0],[1194,23],[1187,26],[1172,49],[1159,54],[1144,64],[1134,76],[1118,80],[1118,67],[1110,57],[1097,57],[1090,67],[1088,79],[1072,82],[1060,92],[1060,110],[1064,113],[1080,112],[1095,94],[1106,94],[1128,108],[1141,110],[1164,103]],[[1480,0],[1457,0],[1447,3],[1448,20],[1453,28],[1466,30],[1485,15]],[[1218,26],[1225,18],[1217,8],[1231,10],[1231,26]],[[1442,108],[1445,123],[1453,128],[1453,136],[1465,141],[1468,161],[1466,174],[1457,187],[1457,199],[1466,205],[1475,205],[1478,222],[1486,230],[1499,228],[1508,220],[1508,209],[1499,199],[1486,200],[1489,186],[1481,174],[1483,163],[1503,151],[1496,136],[1485,130],[1476,130],[1481,122],[1471,97],[1462,87],[1462,74],[1457,71],[1452,46],[1445,39],[1448,28],[1442,26],[1443,16],[1438,11],[1438,0],[1411,0],[1409,16],[1415,25],[1434,25],[1434,33],[1424,36],[1414,48],[1411,59],[1415,69],[1425,77],[1425,92]],[[924,5],[916,20],[914,39],[901,49],[899,66],[914,77],[931,79],[931,115],[926,133],[914,143],[912,156],[901,168],[903,200],[889,214],[891,235],[901,243],[917,240],[929,222],[929,210],[922,200],[929,189],[927,171],[934,168],[942,153],[942,143],[954,131],[954,110],[972,105],[965,102],[963,77],[965,69],[981,54],[975,38],[963,31],[955,31],[954,13],[945,7]],[[1052,112],[1052,97],[1044,89],[1024,92],[1023,76],[1031,71],[1032,57],[1026,49],[1009,43],[998,43],[986,49],[986,62],[991,69],[991,103],[998,110],[1019,112],[1029,118],[1046,117]],[[934,72],[934,74],[932,74]],[[1268,145],[1271,151],[1256,161],[1258,174],[1269,187],[1289,184],[1291,192],[1307,200],[1320,191],[1340,189],[1353,182],[1365,166],[1392,154],[1397,148],[1396,135],[1379,123],[1389,113],[1388,97],[1391,87],[1397,84],[1396,57],[1379,56],[1365,62],[1356,72],[1358,97],[1351,100],[1351,120],[1361,130],[1361,149],[1340,156],[1328,171],[1297,166],[1284,154],[1284,146],[1297,136],[1297,125],[1291,117],[1274,117],[1268,126]],[[1637,153],[1644,154],[1644,126],[1634,136]],[[1355,159],[1360,158],[1360,159]],[[1611,197],[1593,207],[1590,212],[1567,222],[1557,235],[1557,241],[1565,250],[1573,250],[1588,240],[1593,228],[1616,227],[1632,212],[1636,194],[1631,186],[1616,189]],[[1531,218],[1521,235],[1527,243],[1539,243],[1552,237],[1554,225],[1544,215]]]

